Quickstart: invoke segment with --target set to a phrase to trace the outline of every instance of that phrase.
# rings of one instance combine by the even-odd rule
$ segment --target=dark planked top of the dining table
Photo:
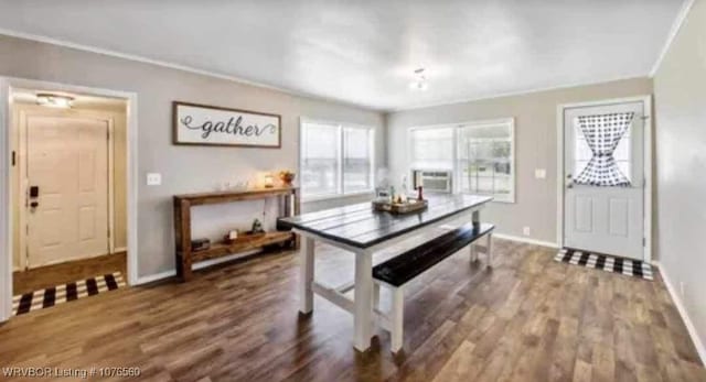
[[[278,226],[309,231],[336,242],[365,249],[475,209],[492,199],[478,195],[432,196],[429,197],[429,206],[425,210],[406,215],[375,211],[370,203],[362,203],[281,218]]]

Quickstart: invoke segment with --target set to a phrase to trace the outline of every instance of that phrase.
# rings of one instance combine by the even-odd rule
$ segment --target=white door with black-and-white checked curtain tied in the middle
[[[643,260],[643,116],[641,101],[564,110],[564,247]],[[612,153],[616,166],[606,166],[608,146],[628,118]]]

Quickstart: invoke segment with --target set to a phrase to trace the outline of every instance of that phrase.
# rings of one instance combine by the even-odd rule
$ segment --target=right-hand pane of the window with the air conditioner
[[[467,123],[458,128],[460,192],[515,199],[512,120]]]

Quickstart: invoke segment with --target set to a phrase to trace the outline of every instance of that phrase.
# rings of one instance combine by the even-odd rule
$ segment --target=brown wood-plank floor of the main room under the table
[[[0,364],[138,367],[154,381],[706,381],[659,275],[495,249],[490,272],[461,251],[410,284],[397,357],[382,330],[356,353],[352,317],[319,297],[300,317],[298,260],[284,252],[14,318]],[[324,282],[352,275],[347,253],[321,248],[317,261]]]

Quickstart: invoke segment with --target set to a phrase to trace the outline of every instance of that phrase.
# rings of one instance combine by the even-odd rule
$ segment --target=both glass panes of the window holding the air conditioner
[[[453,192],[491,195],[514,203],[514,120],[413,128],[414,170],[448,170]]]

